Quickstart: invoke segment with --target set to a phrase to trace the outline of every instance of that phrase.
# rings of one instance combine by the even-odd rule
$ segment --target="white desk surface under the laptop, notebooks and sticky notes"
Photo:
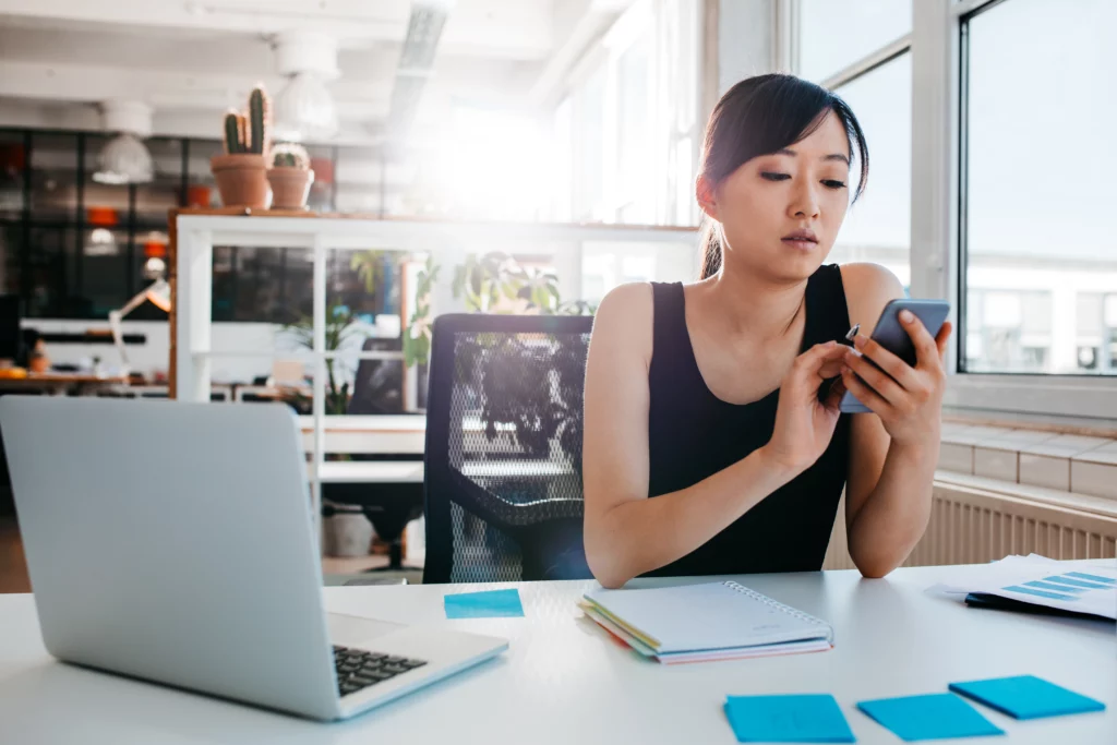
[[[1034,674],[1106,703],[1101,714],[1015,722],[978,707],[1008,737],[1043,745],[1117,742],[1111,623],[967,609],[926,595],[974,567],[737,577],[829,620],[829,652],[662,667],[637,659],[574,601],[589,583],[521,586],[526,618],[448,621],[447,586],[336,588],[331,610],[500,634],[503,658],[349,723],[319,725],[73,668],[47,657],[29,595],[0,595],[3,743],[734,743],[727,694],[829,691],[858,742],[895,744],[855,703],[945,691],[953,680]],[[708,581],[709,577],[701,580]],[[694,580],[690,580],[694,581]],[[483,589],[476,586],[472,589]]]

